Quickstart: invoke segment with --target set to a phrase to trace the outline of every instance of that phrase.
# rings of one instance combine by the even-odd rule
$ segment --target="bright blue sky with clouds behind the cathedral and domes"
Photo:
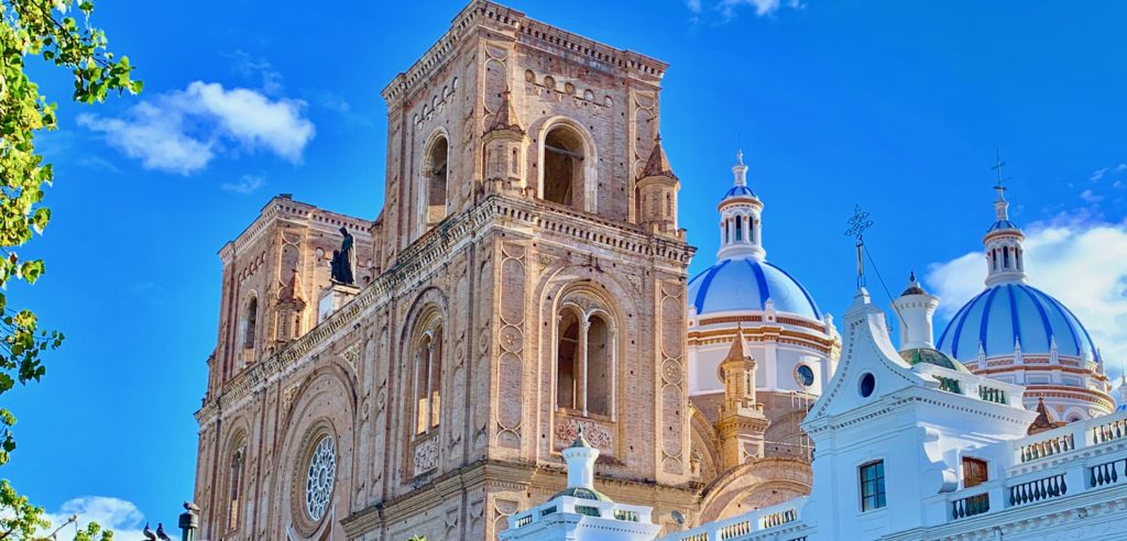
[[[101,496],[119,498],[98,500],[118,527],[175,523],[192,495],[216,251],[277,193],[375,218],[379,91],[463,5],[350,3],[104,0],[95,21],[131,56],[144,95],[76,106],[65,73],[36,68],[60,101],[60,130],[39,139],[55,163],[54,219],[24,250],[46,258],[47,274],[11,294],[68,340],[43,383],[6,397],[20,446],[0,475],[48,511]],[[694,274],[712,261],[712,209],[743,148],[769,258],[823,309],[841,314],[851,300],[842,232],[860,203],[888,286],[919,270],[944,298],[942,317],[980,287],[970,254],[993,215],[1001,147],[1013,215],[1040,247],[1035,283],[1101,329],[1106,357],[1127,355],[1127,6],[511,5],[671,63],[662,135],[700,248]]]

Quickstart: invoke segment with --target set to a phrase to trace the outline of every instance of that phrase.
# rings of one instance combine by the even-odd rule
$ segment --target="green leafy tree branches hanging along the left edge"
[[[127,56],[115,59],[106,34],[90,25],[94,2],[80,0],[0,0],[0,394],[15,384],[38,381],[46,372],[39,354],[62,345],[63,335],[39,329],[30,310],[8,305],[10,280],[35,282],[42,259],[23,259],[15,248],[42,234],[51,211],[42,206],[44,187],[54,172],[35,152],[35,133],[56,127],[55,105],[27,77],[25,60],[38,56],[74,76],[71,99],[104,101],[110,92],[137,94]],[[16,417],[0,408],[0,464],[16,449]],[[0,540],[35,539],[46,527],[43,509],[0,480]],[[97,524],[80,530],[76,541],[113,539]]]

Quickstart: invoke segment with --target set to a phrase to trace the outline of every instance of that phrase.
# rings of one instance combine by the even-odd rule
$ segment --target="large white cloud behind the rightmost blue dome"
[[[1056,220],[1032,224],[1026,234],[1029,282],[1080,318],[1106,369],[1118,373],[1127,363],[1127,222]],[[975,251],[931,265],[925,280],[949,319],[984,289],[985,278],[986,256]]]

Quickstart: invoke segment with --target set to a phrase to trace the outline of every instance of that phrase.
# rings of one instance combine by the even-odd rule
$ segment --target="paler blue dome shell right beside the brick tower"
[[[774,309],[820,320],[814,299],[786,270],[755,258],[722,259],[689,281],[689,305],[698,314]]]

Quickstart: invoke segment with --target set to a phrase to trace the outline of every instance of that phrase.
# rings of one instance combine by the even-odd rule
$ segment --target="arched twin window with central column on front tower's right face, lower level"
[[[605,312],[566,304],[557,319],[556,406],[614,416],[614,329]]]

